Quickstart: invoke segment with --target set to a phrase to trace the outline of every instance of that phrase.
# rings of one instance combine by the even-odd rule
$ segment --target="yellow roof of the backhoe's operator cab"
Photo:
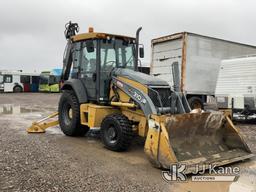
[[[82,41],[86,39],[106,39],[106,38],[120,38],[124,40],[135,40],[134,37],[129,37],[129,36],[124,36],[124,35],[114,35],[114,34],[109,34],[109,33],[98,33],[98,32],[89,32],[89,33],[81,33],[75,36],[72,36],[71,39],[72,41]]]

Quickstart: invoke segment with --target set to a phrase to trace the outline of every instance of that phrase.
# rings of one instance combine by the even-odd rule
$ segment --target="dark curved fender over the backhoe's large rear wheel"
[[[86,88],[80,79],[70,79],[65,81],[61,90],[73,90],[80,104],[88,102]]]

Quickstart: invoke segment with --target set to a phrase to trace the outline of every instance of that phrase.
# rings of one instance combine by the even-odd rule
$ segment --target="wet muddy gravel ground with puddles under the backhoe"
[[[44,134],[26,128],[57,109],[59,94],[0,94],[0,191],[252,191],[256,159],[235,163],[238,182],[167,183],[135,139],[127,152],[104,148],[97,134],[67,137],[59,127]],[[256,125],[237,127],[256,154]],[[243,187],[243,188],[241,188]]]

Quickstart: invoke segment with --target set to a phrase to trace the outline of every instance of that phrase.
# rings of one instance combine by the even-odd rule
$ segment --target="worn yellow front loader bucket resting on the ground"
[[[145,152],[158,167],[186,164],[186,173],[254,156],[232,121],[221,112],[152,116]]]

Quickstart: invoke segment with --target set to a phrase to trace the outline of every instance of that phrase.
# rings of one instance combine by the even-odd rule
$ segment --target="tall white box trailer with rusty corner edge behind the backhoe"
[[[152,40],[151,75],[173,86],[171,65],[180,66],[180,87],[191,108],[203,108],[207,96],[214,96],[220,62],[255,54],[256,47],[189,32]]]

